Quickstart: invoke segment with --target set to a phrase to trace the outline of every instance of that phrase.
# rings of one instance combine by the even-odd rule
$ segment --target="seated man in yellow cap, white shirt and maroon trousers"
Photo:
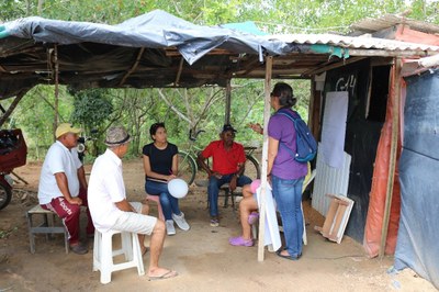
[[[56,128],[56,142],[48,149],[41,171],[38,201],[43,209],[54,211],[63,220],[70,249],[83,255],[88,250],[79,243],[79,215],[80,206],[87,206],[87,180],[76,151],[80,132],[68,123]],[[92,236],[94,227],[90,212],[87,214],[87,234]]]

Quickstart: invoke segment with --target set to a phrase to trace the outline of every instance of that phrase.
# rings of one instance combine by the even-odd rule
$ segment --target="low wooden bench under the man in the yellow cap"
[[[43,216],[43,223],[34,225],[34,216]],[[31,245],[31,252],[35,254],[35,234],[46,234],[46,239],[49,235],[61,233],[64,234],[64,243],[66,246],[66,254],[69,251],[68,233],[64,226],[54,226],[54,217],[57,216],[54,212],[43,209],[40,204],[33,206],[26,212],[29,239]]]

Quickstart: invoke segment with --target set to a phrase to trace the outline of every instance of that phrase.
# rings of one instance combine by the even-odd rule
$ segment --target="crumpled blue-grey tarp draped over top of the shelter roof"
[[[91,42],[127,47],[177,47],[191,65],[213,48],[255,54],[262,46],[268,54],[282,53],[279,44],[263,41],[257,35],[226,27],[196,25],[161,10],[117,25],[32,16],[5,23],[4,32],[10,36],[59,45]]]

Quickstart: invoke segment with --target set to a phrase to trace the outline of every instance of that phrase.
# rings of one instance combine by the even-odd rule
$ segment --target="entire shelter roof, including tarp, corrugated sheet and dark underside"
[[[203,26],[155,10],[117,25],[25,18],[0,26],[0,100],[38,83],[82,88],[226,86],[309,78],[352,56],[428,56],[439,47],[339,35],[261,35],[251,23]],[[258,34],[258,35],[257,35]],[[340,50],[342,49],[342,50]]]

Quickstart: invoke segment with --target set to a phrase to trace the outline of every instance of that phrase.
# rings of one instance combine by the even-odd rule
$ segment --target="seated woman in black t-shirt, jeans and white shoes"
[[[145,169],[145,191],[160,196],[160,204],[166,220],[168,235],[175,235],[173,222],[180,229],[189,231],[190,226],[179,209],[177,198],[168,191],[168,181],[177,178],[178,148],[168,143],[165,123],[155,123],[149,128],[153,143],[143,148]]]

